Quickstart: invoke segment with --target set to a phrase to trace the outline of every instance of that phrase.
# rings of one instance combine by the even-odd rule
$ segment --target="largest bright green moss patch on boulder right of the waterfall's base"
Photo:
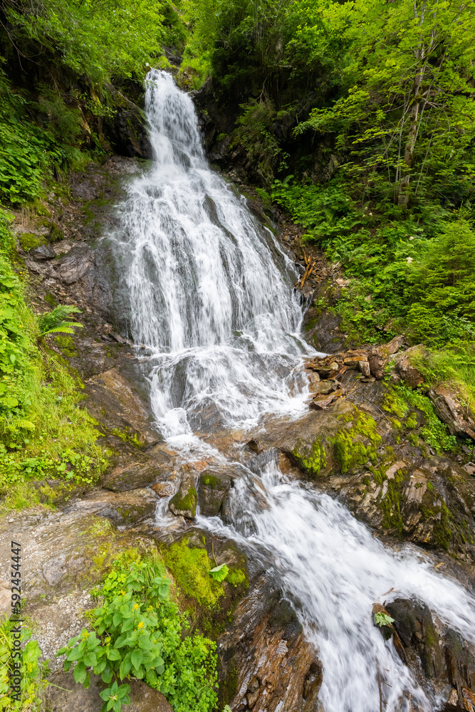
[[[375,420],[371,416],[355,408],[351,422],[350,428],[339,430],[333,438],[335,459],[342,473],[351,472],[368,460],[375,463],[376,448],[381,442],[381,436],[376,431]]]

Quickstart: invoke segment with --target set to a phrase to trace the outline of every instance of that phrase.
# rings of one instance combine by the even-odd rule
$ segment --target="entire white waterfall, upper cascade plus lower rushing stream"
[[[152,70],[146,110],[155,158],[129,187],[116,239],[133,337],[150,354],[157,426],[185,457],[207,447],[193,431],[245,427],[266,412],[302,414],[298,365],[309,347],[299,336],[295,268],[209,169],[192,100]],[[372,625],[372,604],[392,588],[389,598],[419,597],[475,642],[473,598],[414,548],[385,548],[338,501],[287,481],[275,465],[241,469],[232,523],[199,524],[266,558],[318,649],[325,712],[377,712],[378,676],[387,712],[403,709],[409,693],[432,710],[434,694]]]

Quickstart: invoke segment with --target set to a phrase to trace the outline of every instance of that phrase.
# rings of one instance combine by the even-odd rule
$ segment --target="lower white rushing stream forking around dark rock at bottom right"
[[[432,712],[434,694],[420,689],[392,640],[385,642],[372,625],[372,605],[416,597],[475,643],[474,598],[434,571],[429,557],[413,547],[385,548],[342,504],[287,481],[276,466],[239,479],[231,508],[233,526],[204,517],[199,525],[272,562],[323,664],[325,712],[378,712],[378,671],[385,711],[409,709],[402,698],[410,693],[412,703]]]

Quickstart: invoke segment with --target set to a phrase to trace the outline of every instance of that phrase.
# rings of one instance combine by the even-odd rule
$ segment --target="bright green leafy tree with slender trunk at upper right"
[[[343,27],[342,95],[314,110],[300,130],[337,132],[354,167],[387,172],[405,207],[427,171],[458,165],[475,137],[475,3],[469,0],[354,0],[320,6],[325,26]],[[453,180],[451,175],[450,180]]]

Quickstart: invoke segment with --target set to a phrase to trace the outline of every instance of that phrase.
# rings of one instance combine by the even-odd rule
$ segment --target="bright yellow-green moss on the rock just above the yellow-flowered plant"
[[[209,575],[214,563],[209,560],[206,549],[190,548],[187,537],[165,550],[163,558],[184,594],[199,604],[214,607],[224,596],[223,586]]]

